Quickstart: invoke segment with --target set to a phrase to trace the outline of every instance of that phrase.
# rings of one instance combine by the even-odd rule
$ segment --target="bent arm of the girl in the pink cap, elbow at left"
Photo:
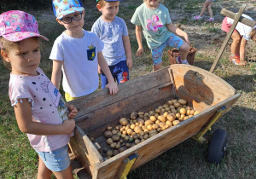
[[[31,102],[22,99],[15,105],[15,116],[20,131],[39,136],[71,134],[75,127],[73,119],[65,120],[63,124],[42,124],[32,121]]]

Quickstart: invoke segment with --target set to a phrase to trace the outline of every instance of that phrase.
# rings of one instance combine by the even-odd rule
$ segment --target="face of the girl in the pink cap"
[[[39,66],[41,54],[36,38],[26,38],[19,43],[20,49],[11,49],[3,58],[12,66],[12,74],[35,76]]]

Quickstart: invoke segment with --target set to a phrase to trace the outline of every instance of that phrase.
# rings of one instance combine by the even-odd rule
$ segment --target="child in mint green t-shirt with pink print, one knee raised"
[[[142,43],[142,26],[143,34],[147,40],[148,48],[151,49],[154,61],[153,71],[160,69],[162,63],[163,49],[167,45],[179,49],[180,56],[176,61],[180,64],[189,64],[187,55],[189,53],[189,36],[172,24],[169,10],[161,3],[160,0],[144,0],[131,18],[131,23],[136,25],[136,37],[138,43],[137,55],[143,55]],[[187,43],[178,38],[174,33],[183,36]]]

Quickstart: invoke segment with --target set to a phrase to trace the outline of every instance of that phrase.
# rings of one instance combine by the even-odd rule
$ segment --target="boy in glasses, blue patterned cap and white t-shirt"
[[[109,94],[118,92],[108,64],[102,55],[104,43],[93,32],[86,32],[84,8],[79,0],[53,0],[56,20],[67,29],[54,43],[49,59],[53,61],[52,82],[60,87],[61,68],[63,90],[67,101],[88,95],[99,85],[98,64],[108,78]]]

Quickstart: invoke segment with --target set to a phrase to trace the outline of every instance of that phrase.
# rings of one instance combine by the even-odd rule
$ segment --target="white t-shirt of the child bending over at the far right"
[[[245,17],[249,20],[253,20],[253,18],[251,18],[250,16],[248,16],[247,14],[241,14],[242,17]],[[227,22],[228,24],[233,24],[234,20],[232,20],[231,18],[227,18]],[[249,33],[252,32],[253,27],[251,26],[247,26],[245,24],[242,24],[241,22],[238,22],[238,24],[236,25],[236,30],[240,33],[240,35],[246,39],[246,40],[250,40],[251,37],[249,36]]]

